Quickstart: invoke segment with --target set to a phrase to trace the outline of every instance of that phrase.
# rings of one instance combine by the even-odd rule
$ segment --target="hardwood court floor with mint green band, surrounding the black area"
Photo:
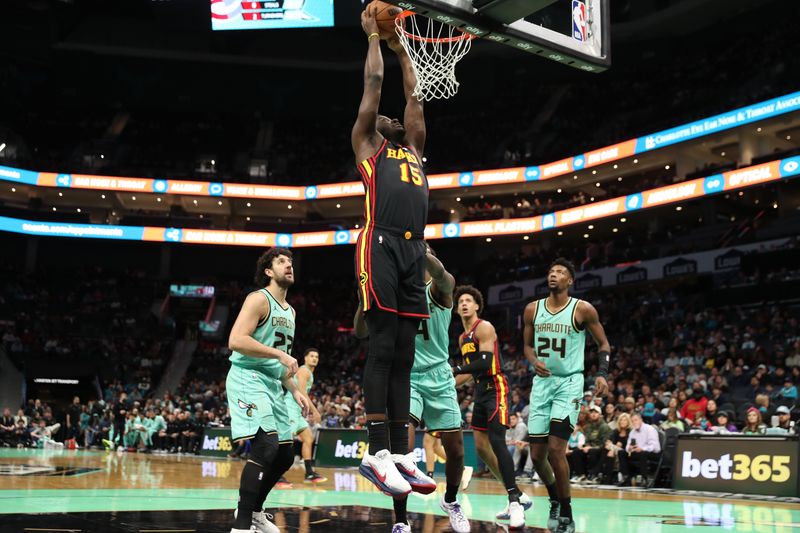
[[[0,532],[227,533],[243,463],[194,456],[86,451],[0,450]],[[275,490],[266,507],[285,532],[386,532],[391,500],[352,469],[320,469],[328,481]],[[438,502],[444,491],[409,500],[412,531],[448,531]],[[547,531],[546,491],[522,485],[534,500],[531,533]],[[475,479],[459,500],[473,531],[505,531],[494,514],[505,506],[495,481]],[[800,505],[699,498],[648,491],[573,490],[579,532],[672,533],[699,526],[724,531],[800,533]]]

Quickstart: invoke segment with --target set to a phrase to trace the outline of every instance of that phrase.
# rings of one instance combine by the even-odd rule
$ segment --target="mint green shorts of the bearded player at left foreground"
[[[292,442],[283,385],[258,370],[231,366],[225,382],[231,412],[231,439],[251,439],[261,428]]]

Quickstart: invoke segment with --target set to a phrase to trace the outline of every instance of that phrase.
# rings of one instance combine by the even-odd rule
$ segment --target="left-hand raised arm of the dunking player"
[[[383,86],[383,55],[375,20],[376,6],[367,7],[361,13],[361,27],[367,34],[369,50],[364,63],[364,94],[358,107],[358,117],[353,126],[351,141],[356,163],[372,157],[380,148],[380,136],[375,129],[378,120],[378,106],[381,103],[381,87]]]

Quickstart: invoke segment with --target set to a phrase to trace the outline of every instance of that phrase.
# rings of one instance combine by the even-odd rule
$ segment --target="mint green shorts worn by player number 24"
[[[535,376],[531,386],[528,435],[546,437],[550,421],[568,421],[571,428],[578,422],[583,399],[583,374],[571,376]]]

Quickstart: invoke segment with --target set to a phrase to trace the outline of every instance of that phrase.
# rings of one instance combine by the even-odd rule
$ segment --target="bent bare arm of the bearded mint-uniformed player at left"
[[[228,337],[228,348],[248,357],[278,359],[287,368],[289,375],[293,376],[297,372],[297,360],[294,357],[283,350],[265,346],[253,338],[253,332],[261,320],[269,317],[269,311],[269,303],[262,294],[250,293],[233,323]]]

